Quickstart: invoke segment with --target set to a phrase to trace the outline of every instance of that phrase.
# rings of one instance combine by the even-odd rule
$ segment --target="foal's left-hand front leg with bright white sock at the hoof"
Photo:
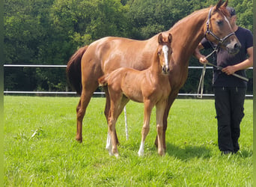
[[[150,100],[144,100],[144,123],[141,131],[141,146],[138,150],[138,156],[144,155],[144,143],[147,137],[147,134],[150,130],[150,115],[153,108],[153,103]]]

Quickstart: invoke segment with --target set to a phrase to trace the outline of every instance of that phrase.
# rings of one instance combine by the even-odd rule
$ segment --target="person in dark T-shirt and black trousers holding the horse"
[[[213,68],[213,90],[215,95],[216,118],[218,120],[218,144],[222,154],[237,153],[240,150],[240,122],[243,119],[243,105],[246,97],[247,82],[232,76],[237,73],[246,76],[246,69],[253,65],[253,36],[252,32],[237,25],[237,15],[233,7],[227,7],[231,14],[231,28],[241,43],[240,52],[236,55],[228,54],[227,50],[218,48],[215,54],[217,66]],[[195,49],[195,57],[201,64],[207,59],[201,54],[201,49],[214,46],[205,37]]]

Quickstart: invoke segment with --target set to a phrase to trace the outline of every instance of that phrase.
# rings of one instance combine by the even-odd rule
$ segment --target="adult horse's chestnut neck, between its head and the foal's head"
[[[173,58],[175,63],[188,66],[189,58],[195,52],[198,43],[204,38],[209,9],[198,10],[177,22],[168,32],[172,34]]]

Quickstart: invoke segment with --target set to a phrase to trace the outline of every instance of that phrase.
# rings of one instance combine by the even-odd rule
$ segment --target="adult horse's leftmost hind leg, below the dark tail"
[[[82,143],[82,120],[85,117],[86,108],[97,86],[97,84],[91,84],[90,89],[83,88],[79,104],[76,107],[76,141],[80,143]]]

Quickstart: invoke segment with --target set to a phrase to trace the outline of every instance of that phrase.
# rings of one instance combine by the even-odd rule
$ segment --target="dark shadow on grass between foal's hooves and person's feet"
[[[177,159],[188,160],[192,158],[208,159],[211,157],[211,151],[204,146],[190,146],[180,147],[174,144],[167,144],[167,150],[169,156],[174,156]]]

